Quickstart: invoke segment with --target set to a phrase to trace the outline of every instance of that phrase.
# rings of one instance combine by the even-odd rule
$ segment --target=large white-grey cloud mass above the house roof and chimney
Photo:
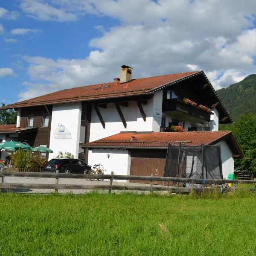
[[[89,12],[114,17],[121,25],[97,26],[102,36],[90,41],[89,46],[96,49],[83,59],[24,57],[33,83],[26,84],[20,97],[111,81],[119,76],[122,64],[134,67],[134,78],[202,69],[216,89],[256,72],[253,65],[256,29],[251,29],[256,1],[158,0],[158,3],[49,0],[46,4],[23,0],[22,6],[28,8],[24,11],[37,19],[76,20]],[[55,12],[62,16],[52,16]],[[69,14],[74,15],[72,19],[67,18]],[[36,90],[37,82],[43,84],[42,90]]]

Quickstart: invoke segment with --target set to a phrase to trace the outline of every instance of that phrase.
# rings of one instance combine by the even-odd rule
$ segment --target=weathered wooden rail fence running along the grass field
[[[4,177],[30,177],[30,178],[55,178],[55,184],[41,184],[41,183],[6,183]],[[96,181],[88,182],[87,184],[58,184],[59,178],[61,179],[104,179],[106,184],[97,184]],[[150,186],[144,185],[127,185],[116,184],[113,185],[113,180],[149,180]],[[204,188],[189,188],[178,186],[161,186],[154,185],[154,181],[164,181],[168,183],[184,183],[184,184],[201,184]],[[194,179],[194,178],[177,178],[177,177],[155,177],[151,176],[132,176],[132,175],[90,175],[90,174],[64,174],[64,173],[47,173],[47,172],[0,172],[0,191],[2,189],[85,189],[85,190],[138,190],[138,191],[169,191],[169,192],[184,192],[189,193],[194,191],[204,191],[209,185],[224,185],[226,183],[252,183],[255,184],[256,180],[212,180],[212,179]]]

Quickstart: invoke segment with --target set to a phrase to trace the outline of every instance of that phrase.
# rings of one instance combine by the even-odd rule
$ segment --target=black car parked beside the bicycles
[[[84,173],[90,170],[91,166],[80,159],[76,158],[52,158],[44,166],[44,172],[59,173]]]

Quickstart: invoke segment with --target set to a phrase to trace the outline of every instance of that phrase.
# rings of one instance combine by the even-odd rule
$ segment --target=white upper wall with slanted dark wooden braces
[[[102,127],[95,109],[92,108],[90,142],[118,134],[120,131],[159,131],[162,116],[161,93],[162,91],[160,93],[157,92],[150,100],[147,101],[146,105],[142,104],[146,115],[146,121],[143,120],[136,102],[128,102],[128,107],[120,105],[127,124],[126,128],[124,127],[116,110],[116,106],[113,103],[107,104],[107,108],[99,108],[99,112],[105,122],[105,129]],[[157,121],[155,119],[153,120],[153,106],[160,109],[160,119],[157,119]]]

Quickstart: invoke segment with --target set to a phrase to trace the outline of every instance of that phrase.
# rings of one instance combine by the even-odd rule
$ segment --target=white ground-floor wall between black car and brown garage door
[[[109,154],[109,158],[108,158]],[[129,175],[131,166],[131,154],[123,149],[93,149],[89,151],[88,164],[102,164],[106,172],[104,174]],[[126,180],[118,180],[126,182]]]

